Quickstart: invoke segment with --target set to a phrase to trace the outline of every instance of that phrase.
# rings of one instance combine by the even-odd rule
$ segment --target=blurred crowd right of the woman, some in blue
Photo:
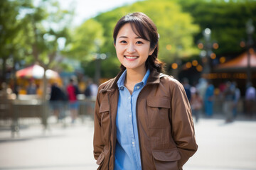
[[[210,118],[215,113],[221,113],[225,115],[225,122],[231,123],[237,117],[238,111],[250,119],[255,113],[256,90],[251,83],[246,86],[245,96],[241,96],[235,81],[225,81],[218,87],[213,86],[211,80],[203,78],[194,86],[188,84],[187,78],[182,83],[196,122],[200,116]]]

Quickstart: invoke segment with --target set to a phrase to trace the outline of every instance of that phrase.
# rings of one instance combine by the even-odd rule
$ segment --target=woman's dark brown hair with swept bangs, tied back
[[[157,33],[156,25],[153,23],[151,18],[146,16],[146,14],[140,12],[129,13],[119,19],[117,25],[114,27],[114,45],[116,44],[117,34],[119,33],[119,30],[126,23],[131,24],[132,30],[136,35],[143,38],[144,40],[150,41],[150,49],[154,49],[152,55],[149,55],[146,60],[146,69],[156,69],[157,72],[164,72],[164,63],[160,62],[157,59],[159,51],[159,34]],[[121,69],[125,69],[122,64]]]

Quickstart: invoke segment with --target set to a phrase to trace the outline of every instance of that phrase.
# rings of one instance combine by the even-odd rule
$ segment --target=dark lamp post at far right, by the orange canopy
[[[250,19],[246,23],[246,33],[248,36],[248,40],[247,40],[247,84],[250,84],[250,82],[251,82],[250,48],[252,47],[252,44],[253,44],[252,34],[253,34],[254,30],[255,30],[255,27],[252,25],[252,19]]]

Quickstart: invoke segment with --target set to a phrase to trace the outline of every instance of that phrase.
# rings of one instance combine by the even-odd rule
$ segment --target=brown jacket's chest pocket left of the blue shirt
[[[101,132],[102,136],[106,141],[110,140],[110,106],[109,103],[104,102],[100,105],[100,115],[101,115]]]

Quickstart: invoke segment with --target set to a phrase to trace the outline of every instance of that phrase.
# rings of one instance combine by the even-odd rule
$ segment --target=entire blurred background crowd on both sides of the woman
[[[198,80],[198,84],[193,85],[189,84],[187,78],[183,78],[181,82],[186,91],[188,101],[191,103],[196,123],[199,118],[211,118],[214,114],[224,115],[225,122],[230,123],[239,114],[252,119],[256,113],[256,89],[251,83],[247,84],[245,96],[242,96],[235,81],[225,81],[219,86],[213,86],[211,80],[203,78]],[[92,79],[87,79],[83,86],[74,77],[70,78],[65,85],[60,84],[59,81],[50,82],[47,93],[50,111],[58,120],[63,120],[67,115],[66,111],[68,111],[72,123],[75,123],[79,115],[79,109],[82,107],[81,105],[85,104],[81,101],[87,102],[87,106],[84,106],[85,112],[93,114],[97,89],[98,86]],[[11,89],[7,84],[2,84],[0,112],[2,108],[9,106],[6,98],[22,100],[24,96],[31,96],[28,97],[31,100],[41,95],[38,92],[40,91],[38,84],[34,80],[29,81],[28,86],[26,86],[26,93],[24,93],[24,89],[22,90],[21,93],[19,91],[15,92],[15,89]]]

